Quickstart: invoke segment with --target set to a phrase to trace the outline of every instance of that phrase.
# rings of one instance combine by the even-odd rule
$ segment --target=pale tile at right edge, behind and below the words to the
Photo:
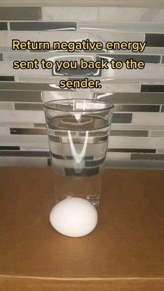
[[[142,60],[142,57],[141,57]],[[144,69],[126,69],[125,64],[122,69],[111,69],[110,63],[109,69],[102,70],[101,78],[152,78],[154,79],[154,73],[156,72],[156,78],[164,78],[164,65],[145,64]]]

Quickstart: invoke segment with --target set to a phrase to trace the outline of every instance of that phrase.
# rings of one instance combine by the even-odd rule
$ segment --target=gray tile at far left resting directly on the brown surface
[[[0,167],[47,167],[47,158],[0,157]]]

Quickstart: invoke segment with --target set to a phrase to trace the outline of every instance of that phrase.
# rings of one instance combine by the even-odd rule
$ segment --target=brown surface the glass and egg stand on
[[[106,170],[83,238],[49,223],[51,169],[1,168],[0,193],[0,290],[164,290],[163,171]]]

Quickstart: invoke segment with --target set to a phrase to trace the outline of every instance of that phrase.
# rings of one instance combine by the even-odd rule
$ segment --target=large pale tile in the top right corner
[[[100,7],[99,22],[154,22],[164,23],[164,9]]]

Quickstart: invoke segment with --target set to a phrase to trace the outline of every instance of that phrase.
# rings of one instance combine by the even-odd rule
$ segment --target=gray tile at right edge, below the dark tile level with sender
[[[147,85],[146,85],[147,86]],[[148,85],[149,86],[149,85]],[[152,85],[154,86],[154,85]],[[143,90],[143,89],[142,89]],[[164,86],[163,86],[164,90]],[[164,104],[164,93],[101,93],[95,94],[95,98],[113,104]]]

